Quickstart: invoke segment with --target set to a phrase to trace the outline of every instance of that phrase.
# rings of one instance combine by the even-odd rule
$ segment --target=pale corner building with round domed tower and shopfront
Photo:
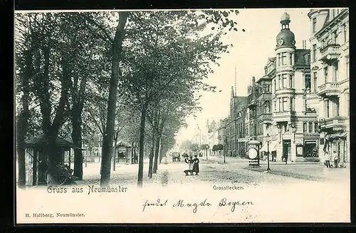
[[[272,125],[269,135],[276,160],[318,161],[317,112],[310,98],[310,50],[295,48],[290,16],[281,17],[276,36],[276,76],[272,78]]]

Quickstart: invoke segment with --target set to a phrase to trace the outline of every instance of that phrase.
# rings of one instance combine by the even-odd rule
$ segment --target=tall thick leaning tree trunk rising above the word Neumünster
[[[127,16],[128,14],[125,11],[121,11],[119,13],[119,23],[116,27],[114,41],[112,41],[112,66],[108,99],[108,117],[105,128],[105,135],[103,137],[100,186],[108,186],[110,182],[112,141],[114,139],[115,130],[117,82],[119,80],[119,66],[122,52],[122,40],[125,37],[125,24],[127,21]]]

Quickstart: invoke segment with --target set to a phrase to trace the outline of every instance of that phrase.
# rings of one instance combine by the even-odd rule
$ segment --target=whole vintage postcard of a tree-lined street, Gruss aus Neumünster
[[[349,9],[14,20],[16,224],[350,222]]]

